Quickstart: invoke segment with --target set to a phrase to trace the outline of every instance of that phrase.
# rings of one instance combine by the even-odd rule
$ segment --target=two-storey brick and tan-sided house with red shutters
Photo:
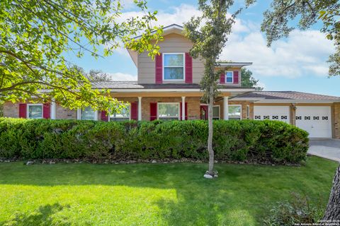
[[[192,59],[188,52],[193,44],[182,32],[179,25],[164,28],[164,41],[159,43],[161,54],[154,61],[147,53],[137,54],[128,49],[137,66],[137,81],[93,84],[94,88],[110,89],[113,97],[129,102],[125,112],[107,116],[106,112],[94,112],[89,107],[74,111],[55,103],[6,102],[4,116],[103,121],[207,119],[208,106],[200,101],[203,62]],[[228,69],[220,76],[214,119],[279,120],[305,129],[312,138],[340,138],[340,97],[292,91],[254,92],[253,88],[241,86],[241,68],[249,65],[230,62],[218,66]]]

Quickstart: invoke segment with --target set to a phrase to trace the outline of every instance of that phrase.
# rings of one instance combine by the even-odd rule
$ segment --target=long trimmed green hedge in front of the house
[[[280,121],[214,121],[217,160],[297,163],[307,132]],[[207,121],[77,121],[0,118],[0,157],[206,160]]]

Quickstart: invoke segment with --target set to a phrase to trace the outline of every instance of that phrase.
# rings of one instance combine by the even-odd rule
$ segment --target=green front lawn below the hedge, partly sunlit
[[[0,225],[261,225],[292,192],[328,201],[336,162],[303,167],[217,164],[0,164]]]

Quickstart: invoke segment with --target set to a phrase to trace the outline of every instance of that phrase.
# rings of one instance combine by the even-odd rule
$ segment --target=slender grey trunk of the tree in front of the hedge
[[[214,104],[214,95],[213,88],[210,87],[209,93],[209,102],[208,102],[208,127],[209,127],[209,135],[208,135],[208,152],[209,152],[209,174],[214,174],[214,150],[212,150],[212,107]]]

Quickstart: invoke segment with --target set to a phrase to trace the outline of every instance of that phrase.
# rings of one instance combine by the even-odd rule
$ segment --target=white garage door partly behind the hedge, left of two
[[[254,106],[255,120],[278,120],[290,123],[289,106]]]

